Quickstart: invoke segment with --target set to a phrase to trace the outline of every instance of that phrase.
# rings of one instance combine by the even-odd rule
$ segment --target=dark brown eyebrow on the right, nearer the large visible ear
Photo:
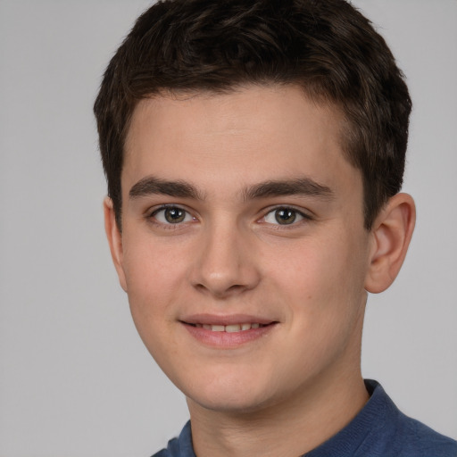
[[[311,178],[272,180],[245,189],[245,200],[269,196],[304,195],[331,200],[335,194],[330,187],[319,184]]]

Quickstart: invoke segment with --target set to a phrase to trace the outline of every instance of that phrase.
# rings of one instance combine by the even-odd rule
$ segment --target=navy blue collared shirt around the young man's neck
[[[303,457],[457,457],[456,441],[405,416],[378,382],[366,380],[365,385],[370,400],[357,416]],[[153,457],[196,457],[190,421]]]

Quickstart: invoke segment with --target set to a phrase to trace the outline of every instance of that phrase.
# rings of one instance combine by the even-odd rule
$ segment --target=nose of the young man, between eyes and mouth
[[[261,280],[256,258],[253,240],[236,224],[205,230],[195,259],[193,286],[219,299],[252,290]]]

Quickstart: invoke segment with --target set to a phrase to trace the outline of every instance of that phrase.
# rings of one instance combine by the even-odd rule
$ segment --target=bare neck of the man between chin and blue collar
[[[296,457],[311,451],[353,420],[369,398],[360,370],[330,379],[262,411],[212,411],[187,399],[196,455]]]

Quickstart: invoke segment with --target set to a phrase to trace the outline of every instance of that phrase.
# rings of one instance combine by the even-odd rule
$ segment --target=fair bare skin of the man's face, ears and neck
[[[341,125],[337,109],[293,86],[156,96],[133,114],[122,231],[107,198],[106,232],[137,330],[187,396],[199,457],[296,457],[368,400],[367,291],[400,269],[414,204],[395,195],[363,227],[361,173],[344,158]],[[279,192],[278,181],[294,186]],[[195,336],[198,320],[269,325],[243,340]]]

